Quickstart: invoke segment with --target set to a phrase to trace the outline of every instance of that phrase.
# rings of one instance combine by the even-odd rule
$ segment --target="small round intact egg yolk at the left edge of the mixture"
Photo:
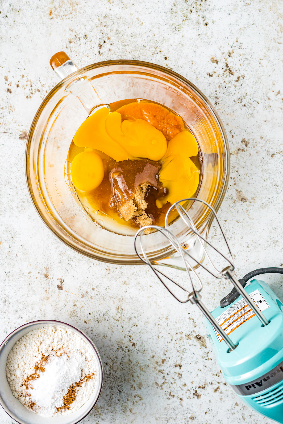
[[[101,157],[92,151],[78,153],[73,159],[71,176],[78,190],[89,191],[98,187],[104,177]]]

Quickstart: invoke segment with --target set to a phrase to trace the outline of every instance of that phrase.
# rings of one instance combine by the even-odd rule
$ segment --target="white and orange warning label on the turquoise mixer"
[[[269,308],[269,305],[264,300],[263,296],[258,290],[255,290],[252,293],[249,293],[249,296],[255,302],[256,306],[260,311],[264,311]],[[251,307],[247,304],[245,299],[240,299],[238,302],[230,306],[226,311],[224,311],[218,318],[215,318],[224,332],[229,335],[235,329],[237,329],[240,325],[244,324],[250,318],[255,316],[255,312],[251,309]],[[215,330],[219,341],[221,342],[223,339],[221,335]]]

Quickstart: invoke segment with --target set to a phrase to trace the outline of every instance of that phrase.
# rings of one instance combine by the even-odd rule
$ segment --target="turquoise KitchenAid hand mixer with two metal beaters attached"
[[[186,201],[202,202],[211,210],[229,251],[229,258],[197,231],[188,212],[182,206]],[[189,226],[191,232],[196,234],[206,254],[208,266],[194,258],[190,254],[188,246],[178,240],[168,230],[168,215],[173,208],[177,209],[180,218]],[[192,286],[191,292],[169,276],[166,276],[150,262],[143,246],[143,242],[147,237],[143,235],[146,228],[161,232],[180,254]],[[228,263],[222,271],[213,264],[207,252],[207,245],[211,248],[211,252],[214,254],[216,252]],[[138,251],[138,246],[140,251]],[[141,228],[135,235],[134,247],[140,259],[151,267],[174,298],[181,303],[190,301],[192,304],[196,304],[203,312],[206,318],[208,337],[224,379],[231,385],[242,401],[263,416],[272,418],[282,424],[283,304],[265,282],[252,279],[247,286],[246,284],[251,277],[270,272],[283,273],[283,269],[261,268],[252,271],[238,281],[235,277],[233,255],[216,212],[205,201],[197,198],[182,199],[173,204],[165,217],[165,228],[154,225]],[[234,285],[231,293],[221,299],[220,306],[212,312],[209,312],[201,301],[202,282],[193,264],[200,265],[217,279],[229,279]],[[198,281],[198,290],[196,290],[193,283],[191,272]],[[178,286],[185,293],[185,298],[179,298],[168,286],[171,283],[166,283],[165,279]],[[244,286],[246,286],[245,289]]]

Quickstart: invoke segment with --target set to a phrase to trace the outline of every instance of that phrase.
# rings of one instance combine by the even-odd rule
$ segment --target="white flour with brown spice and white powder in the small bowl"
[[[13,395],[26,408],[45,417],[66,415],[90,398],[96,361],[72,331],[45,327],[17,341],[8,354],[6,376]]]

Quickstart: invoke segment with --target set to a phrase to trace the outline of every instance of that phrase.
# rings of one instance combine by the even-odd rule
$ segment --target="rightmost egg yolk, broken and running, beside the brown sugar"
[[[167,202],[173,204],[196,192],[199,171],[189,157],[196,156],[198,152],[196,139],[189,131],[182,131],[169,141],[159,172],[159,181],[168,190],[168,195],[156,200],[159,209]]]

